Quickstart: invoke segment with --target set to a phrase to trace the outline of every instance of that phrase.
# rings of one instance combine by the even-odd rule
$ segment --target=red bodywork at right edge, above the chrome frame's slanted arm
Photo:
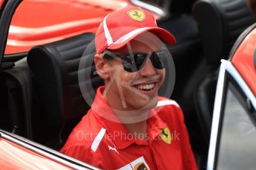
[[[256,95],[256,69],[254,65],[254,53],[256,48],[256,28],[244,38],[232,58],[232,64],[240,72],[243,79]]]

